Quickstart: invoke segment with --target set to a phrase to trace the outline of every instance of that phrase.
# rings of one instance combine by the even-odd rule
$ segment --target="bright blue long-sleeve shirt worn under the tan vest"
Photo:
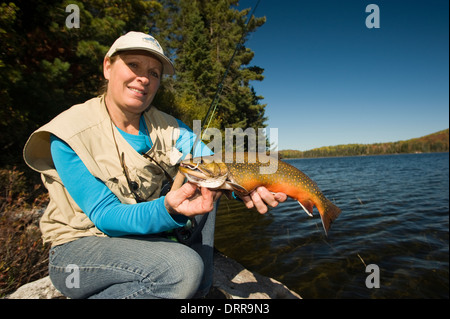
[[[190,149],[186,148],[186,143],[191,146],[196,136],[186,124],[177,121],[180,137],[176,148],[180,151]],[[152,147],[142,118],[139,135],[128,134],[120,129],[119,132],[139,153],[145,153]],[[54,135],[51,135],[51,154],[55,168],[70,196],[95,226],[108,236],[155,234],[184,226],[187,222],[185,216],[167,212],[164,196],[144,203],[122,204],[100,179],[88,171],[70,146]],[[203,143],[199,143],[194,152],[195,156],[211,154],[211,150]]]

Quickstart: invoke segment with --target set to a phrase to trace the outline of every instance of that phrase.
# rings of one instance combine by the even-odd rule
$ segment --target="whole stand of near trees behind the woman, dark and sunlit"
[[[79,8],[79,28],[68,27],[68,5]],[[0,5],[0,167],[22,162],[33,130],[68,107],[97,96],[103,58],[120,35],[150,33],[174,61],[154,105],[192,126],[202,120],[236,44],[265,23],[239,0],[14,0]],[[263,69],[241,45],[223,83],[212,127],[265,127],[265,105],[251,81]]]

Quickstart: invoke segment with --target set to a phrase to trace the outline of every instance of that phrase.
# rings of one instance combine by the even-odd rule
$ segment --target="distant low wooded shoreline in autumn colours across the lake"
[[[392,143],[346,144],[324,146],[309,151],[283,150],[283,158],[308,158],[329,156],[382,155],[400,153],[448,152],[449,130],[439,131],[419,138]]]

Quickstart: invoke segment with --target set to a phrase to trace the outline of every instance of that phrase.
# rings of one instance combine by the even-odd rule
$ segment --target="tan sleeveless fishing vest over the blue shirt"
[[[179,155],[174,147],[179,137],[176,119],[153,106],[144,112],[144,119],[153,142],[147,154],[174,176],[176,166],[171,165],[170,156]],[[137,153],[123,138],[110,120],[104,96],[74,105],[36,130],[24,148],[25,162],[41,173],[50,195],[50,203],[40,221],[44,242],[56,246],[80,237],[106,236],[64,187],[53,165],[50,134],[65,141],[89,172],[102,180],[122,203],[134,204],[136,200],[129,189],[117,150],[124,153],[130,180],[139,185],[139,196],[147,200],[159,197],[164,172],[152,160]]]

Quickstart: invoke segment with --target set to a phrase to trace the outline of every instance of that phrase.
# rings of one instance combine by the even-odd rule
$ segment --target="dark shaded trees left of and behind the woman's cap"
[[[79,8],[80,28],[66,26]],[[102,63],[129,30],[149,31],[156,1],[16,0],[0,6],[2,166],[22,163],[29,134],[69,106],[98,94]]]

